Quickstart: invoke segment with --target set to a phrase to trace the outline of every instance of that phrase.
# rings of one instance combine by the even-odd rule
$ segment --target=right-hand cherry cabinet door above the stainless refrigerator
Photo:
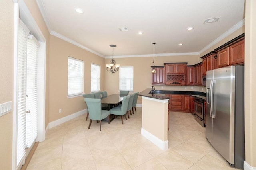
[[[230,50],[230,65],[244,63],[244,39],[231,45]]]

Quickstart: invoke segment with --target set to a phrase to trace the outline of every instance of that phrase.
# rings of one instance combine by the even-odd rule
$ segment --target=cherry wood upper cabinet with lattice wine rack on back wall
[[[165,85],[185,86],[188,63],[164,63]]]

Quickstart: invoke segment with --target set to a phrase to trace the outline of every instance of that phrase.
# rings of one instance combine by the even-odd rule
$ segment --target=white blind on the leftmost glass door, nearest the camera
[[[17,166],[25,158],[26,147],[26,68],[28,33],[29,30],[20,22],[18,31],[17,77]]]

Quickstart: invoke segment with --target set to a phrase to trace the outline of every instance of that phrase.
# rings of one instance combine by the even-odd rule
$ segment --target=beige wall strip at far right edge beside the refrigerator
[[[256,1],[246,0],[245,34],[245,158],[256,168]]]

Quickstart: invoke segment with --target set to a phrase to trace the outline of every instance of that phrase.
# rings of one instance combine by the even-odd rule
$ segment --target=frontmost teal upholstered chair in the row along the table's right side
[[[121,116],[122,124],[124,124],[123,115],[124,115],[125,119],[127,120],[127,117],[125,114],[127,112],[129,98],[130,98],[130,95],[124,96],[122,105],[119,105],[121,107],[114,107],[114,108],[110,109],[110,114]]]

